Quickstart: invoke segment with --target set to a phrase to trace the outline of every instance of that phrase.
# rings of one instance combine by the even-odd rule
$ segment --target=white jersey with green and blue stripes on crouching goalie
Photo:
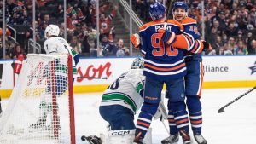
[[[143,69],[131,69],[109,85],[102,95],[101,106],[121,105],[136,112],[143,104]]]

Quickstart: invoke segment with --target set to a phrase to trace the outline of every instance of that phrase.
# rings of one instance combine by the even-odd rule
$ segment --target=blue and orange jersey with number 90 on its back
[[[181,78],[186,74],[183,49],[175,49],[160,40],[159,28],[181,34],[179,23],[166,23],[164,20],[148,22],[140,27],[141,52],[145,59],[144,75],[157,80]]]

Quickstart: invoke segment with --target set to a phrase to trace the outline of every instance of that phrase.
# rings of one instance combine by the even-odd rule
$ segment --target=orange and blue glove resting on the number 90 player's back
[[[159,38],[166,42],[167,44],[172,44],[176,41],[176,34],[174,32],[169,32],[163,28],[158,29]]]

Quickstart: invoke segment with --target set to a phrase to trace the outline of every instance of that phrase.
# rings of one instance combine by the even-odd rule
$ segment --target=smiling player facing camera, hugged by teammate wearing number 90
[[[195,39],[200,38],[200,33],[197,30],[196,20],[188,17],[189,7],[185,2],[174,3],[172,12],[173,19],[180,22],[184,27],[183,33],[188,33]],[[204,44],[207,44],[204,42]],[[189,110],[190,124],[194,133],[195,141],[199,144],[207,144],[205,138],[201,135],[201,124],[202,124],[202,112],[201,112],[201,85],[203,80],[203,66],[201,53],[192,54],[189,52],[185,53],[185,62],[187,66],[187,75],[185,76],[185,94],[186,94],[186,105]],[[166,94],[168,95],[168,94]],[[165,140],[161,141],[162,144],[172,144],[178,141],[178,125],[175,123],[178,121],[175,113],[169,111],[168,122],[170,126],[170,136]],[[186,132],[186,131],[184,131]],[[180,133],[184,135],[183,133]],[[189,133],[185,134],[189,135]],[[189,142],[188,140],[187,142]]]

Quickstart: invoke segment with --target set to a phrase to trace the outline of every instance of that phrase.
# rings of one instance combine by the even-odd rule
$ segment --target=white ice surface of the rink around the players
[[[251,88],[203,89],[201,98],[204,118],[202,131],[209,144],[253,143],[256,134],[256,90],[245,95],[230,107],[226,107],[224,113],[218,113],[220,107],[247,92],[248,89]],[[87,143],[81,141],[81,135],[99,136],[100,133],[107,131],[107,123],[98,112],[101,95],[102,93],[90,93],[74,96],[75,129],[78,144]],[[3,111],[7,101],[8,99],[4,99],[2,102]],[[160,141],[168,136],[165,127],[159,120],[153,120],[151,128],[153,144],[160,144]],[[178,144],[182,143],[180,138]]]

